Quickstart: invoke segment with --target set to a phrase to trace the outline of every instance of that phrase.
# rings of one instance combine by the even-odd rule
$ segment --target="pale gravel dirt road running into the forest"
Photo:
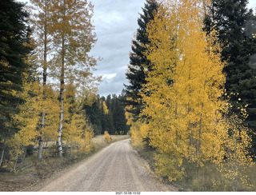
[[[115,142],[45,181],[37,191],[153,192],[176,191],[150,174],[149,165],[130,146]]]

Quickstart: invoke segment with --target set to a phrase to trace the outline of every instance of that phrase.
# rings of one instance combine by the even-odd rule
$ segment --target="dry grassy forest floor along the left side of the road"
[[[129,138],[129,135],[111,135],[112,141],[120,141]],[[107,145],[104,141],[103,135],[99,135],[93,138],[94,151],[82,157],[80,159],[71,160],[63,157],[48,157],[42,161],[35,163],[28,169],[18,171],[18,173],[0,172],[0,191],[1,192],[22,192],[32,185],[38,184],[40,181],[51,177],[55,173],[59,173],[64,169],[70,168],[70,166],[82,161],[83,159],[90,157],[94,153],[97,153],[100,149],[105,148]],[[28,157],[29,158],[29,157]],[[34,162],[34,157],[26,159],[26,161]],[[31,163],[31,162],[30,162]]]

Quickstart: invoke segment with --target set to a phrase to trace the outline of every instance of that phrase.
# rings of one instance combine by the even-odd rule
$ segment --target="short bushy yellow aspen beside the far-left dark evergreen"
[[[14,95],[24,100],[18,105],[19,113],[12,117],[12,125],[19,129],[6,145],[10,148],[10,159],[6,159],[3,167],[16,171],[18,157],[23,153],[23,148],[34,145],[34,140],[38,137],[38,124],[42,110],[42,95],[39,82],[27,82],[28,75],[23,74],[22,92],[14,92]],[[40,96],[41,95],[41,96]]]

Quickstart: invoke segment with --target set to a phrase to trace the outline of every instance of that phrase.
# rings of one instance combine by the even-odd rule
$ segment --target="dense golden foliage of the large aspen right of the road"
[[[210,159],[218,130],[225,77],[214,37],[202,32],[203,10],[194,1],[166,1],[150,23],[150,51],[154,71],[148,72],[143,114],[151,145],[202,165]],[[188,17],[190,15],[190,17]],[[142,126],[142,130],[145,128]],[[209,140],[214,137],[212,141]],[[216,151],[217,152],[217,151]]]

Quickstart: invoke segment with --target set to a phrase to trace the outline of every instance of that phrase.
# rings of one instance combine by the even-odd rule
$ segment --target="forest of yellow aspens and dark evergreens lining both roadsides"
[[[26,157],[85,157],[94,136],[128,133],[165,181],[255,190],[256,15],[247,4],[146,0],[129,83],[102,97],[90,2],[2,0],[0,171],[18,173]]]

